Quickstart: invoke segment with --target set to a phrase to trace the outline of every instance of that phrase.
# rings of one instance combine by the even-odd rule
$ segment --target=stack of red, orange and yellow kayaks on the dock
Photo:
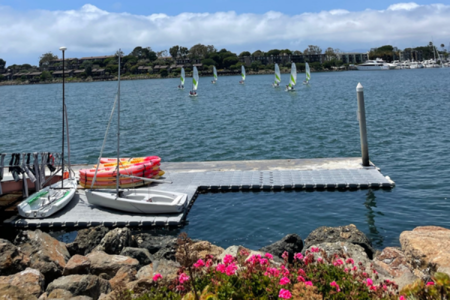
[[[160,169],[161,158],[158,156],[120,158],[119,172],[143,178],[157,179],[164,174]],[[100,158],[97,175],[92,188],[115,188],[117,173],[117,158]],[[79,184],[84,188],[91,188],[97,165],[89,169],[79,170]],[[119,187],[130,188],[147,184],[148,181],[138,178],[119,178]]]

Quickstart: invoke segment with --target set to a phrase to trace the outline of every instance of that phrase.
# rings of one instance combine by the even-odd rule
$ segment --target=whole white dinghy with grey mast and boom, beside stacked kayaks
[[[120,51],[120,49],[119,49]],[[116,185],[115,189],[92,189],[94,182],[96,182],[96,175],[99,167],[100,157],[103,152],[103,147],[98,157],[95,174],[92,179],[91,188],[85,189],[87,202],[102,207],[137,212],[137,213],[175,213],[181,212],[184,209],[184,205],[187,202],[187,194],[179,192],[171,192],[165,190],[157,190],[151,188],[121,188],[119,177],[128,177],[146,181],[156,182],[169,182],[159,179],[151,179],[145,177],[139,177],[126,174],[126,170],[120,170],[121,159],[120,153],[120,55],[118,58],[118,82],[117,82],[117,97],[114,101],[112,112],[117,103],[117,164],[116,164]],[[111,117],[112,117],[111,112]],[[108,126],[106,128],[105,139],[107,136],[107,130],[111,121],[109,119]],[[105,140],[103,140],[104,146]]]

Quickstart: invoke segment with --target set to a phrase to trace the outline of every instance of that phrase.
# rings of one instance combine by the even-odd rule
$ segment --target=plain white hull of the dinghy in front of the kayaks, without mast
[[[125,189],[119,197],[115,189],[86,189],[85,194],[89,204],[135,213],[179,213],[187,203],[185,193],[150,188]]]

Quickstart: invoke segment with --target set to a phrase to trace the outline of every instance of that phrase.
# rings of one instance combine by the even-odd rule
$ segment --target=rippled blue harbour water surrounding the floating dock
[[[121,82],[121,153],[163,161],[359,156],[358,82],[364,86],[370,160],[386,190],[201,194],[182,228],[226,247],[258,248],[287,233],[354,223],[378,248],[401,231],[450,227],[450,68],[313,73],[296,92],[273,75],[201,77],[198,96],[177,79]],[[303,79],[299,74],[299,81]],[[282,83],[288,75],[282,74]],[[285,84],[285,83],[284,83]],[[72,162],[94,163],[116,82],[66,84]],[[61,85],[0,86],[0,151],[59,151]],[[104,156],[115,154],[115,124]],[[169,170],[170,171],[170,170]],[[178,231],[171,231],[176,234]]]

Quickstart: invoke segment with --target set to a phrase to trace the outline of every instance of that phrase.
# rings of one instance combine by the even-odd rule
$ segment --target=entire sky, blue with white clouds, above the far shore
[[[450,0],[0,0],[0,58],[37,64],[66,57],[125,54],[135,46],[213,44],[236,53],[304,50],[308,44],[367,51],[450,42]]]

